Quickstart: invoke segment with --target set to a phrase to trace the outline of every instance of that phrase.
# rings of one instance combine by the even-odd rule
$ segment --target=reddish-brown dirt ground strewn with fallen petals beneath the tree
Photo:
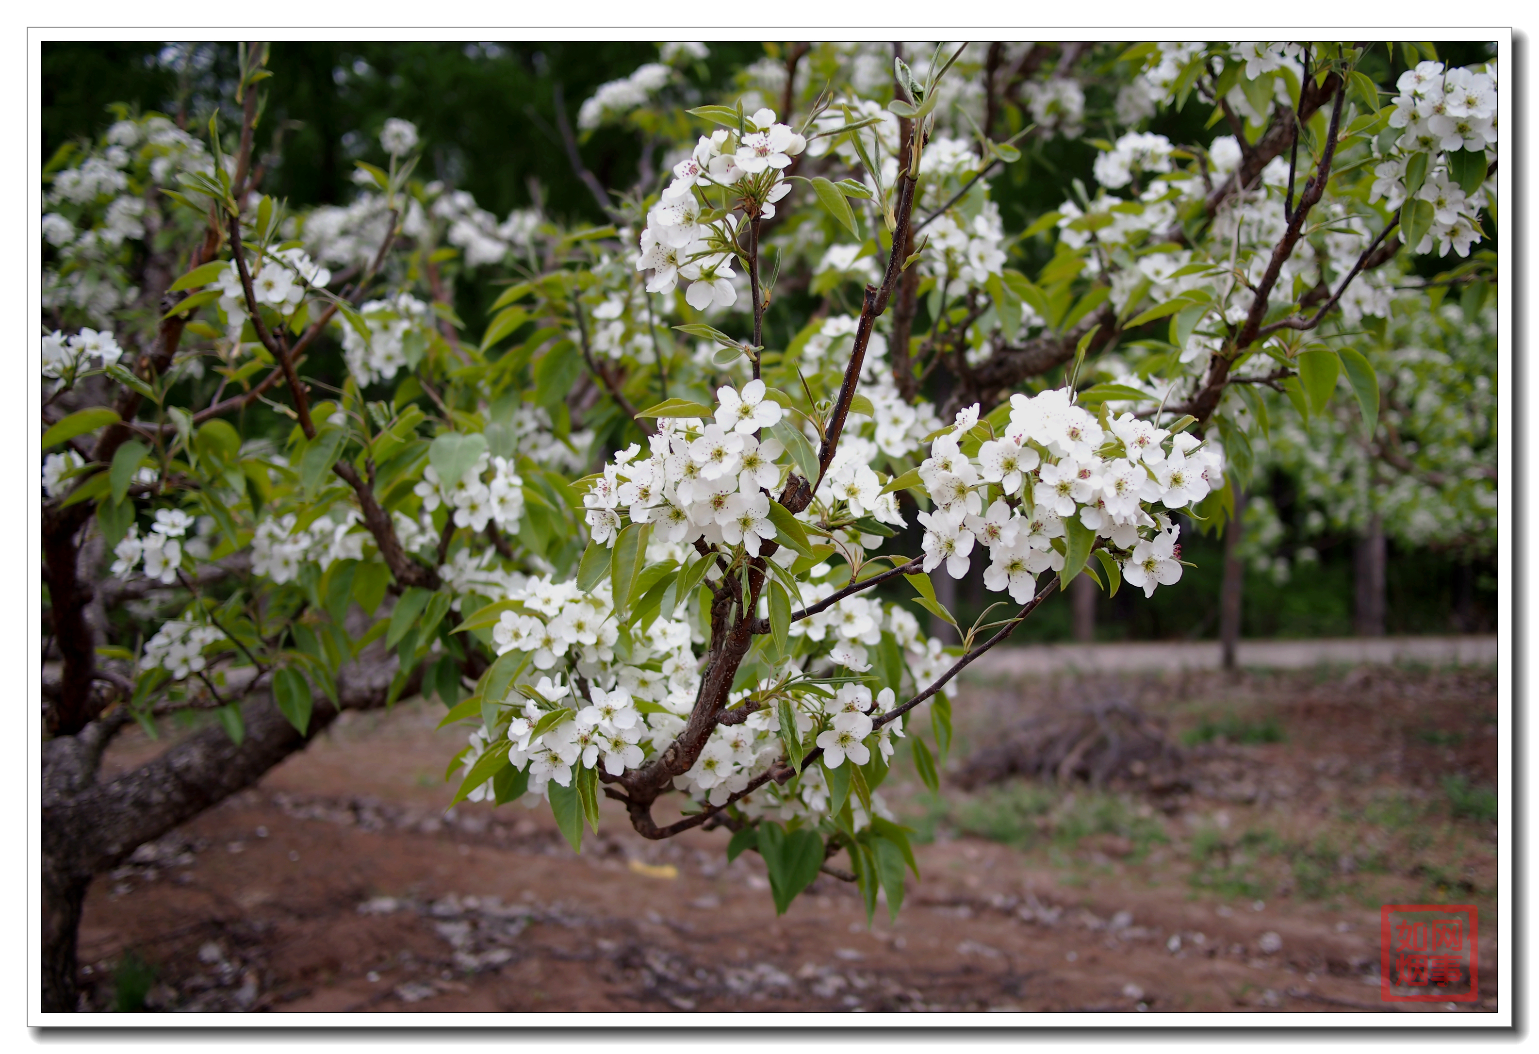
[[[974,682],[950,768],[1053,708],[1120,700],[1183,745],[1160,788],[1007,780],[883,794],[922,880],[866,925],[820,877],[776,917],[725,832],[582,856],[548,809],[445,812],[437,703],[346,714],[255,788],[100,877],[95,1009],[1496,1009],[1496,674],[1360,668]],[[168,729],[168,735],[171,735]],[[108,772],[163,749],[132,729]],[[1382,1003],[1380,903],[1476,903],[1477,1003]]]

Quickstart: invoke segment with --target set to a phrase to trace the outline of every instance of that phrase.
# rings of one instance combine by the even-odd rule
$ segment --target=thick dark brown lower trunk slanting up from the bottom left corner
[[[397,663],[372,645],[363,663],[337,677],[343,708],[385,705]],[[420,672],[403,694],[420,685]],[[117,866],[145,842],[191,820],[242,791],[337,719],[339,709],[315,694],[309,735],[300,735],[266,691],[242,708],[246,734],[237,746],[222,726],[209,726],[168,748],[152,762],[109,783],[97,783],[102,751],[128,723],[119,708],[78,735],[43,743],[43,1011],[77,1008],[75,943],[80,908],[95,874]]]

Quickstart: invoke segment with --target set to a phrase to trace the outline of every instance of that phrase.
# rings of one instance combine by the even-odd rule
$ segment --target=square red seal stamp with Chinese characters
[[[1387,903],[1379,909],[1379,999],[1473,1003],[1479,999],[1474,905]]]

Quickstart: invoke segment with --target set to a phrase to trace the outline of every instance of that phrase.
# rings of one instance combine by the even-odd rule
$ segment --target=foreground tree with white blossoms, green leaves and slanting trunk
[[[1397,237],[1481,237],[1494,68],[1417,49],[771,45],[694,106],[708,49],[663,45],[557,109],[602,226],[417,178],[405,120],[352,202],[291,212],[262,45],[206,138],[125,112],[66,146],[45,1008],[75,1005],[92,874],[416,691],[468,725],[452,802],[545,800],[577,849],[608,796],[645,837],[728,829],[780,911],[828,872],[896,912],[894,740],[936,788],[951,682],[1054,589],[1176,583],[1173,517],[1220,523],[1251,474],[1245,392],[1319,408],[1340,362],[1360,397],[1311,331],[1385,315]],[[1380,108],[1365,71],[1402,58]],[[1188,103],[1231,135],[1093,140],[1097,192],[1007,235],[996,172]],[[668,162],[625,192],[579,149],[616,123]],[[472,340],[454,292],[499,282]],[[1007,614],[957,625],[930,574],[985,554]],[[183,711],[214,720],[97,782],[115,731]]]

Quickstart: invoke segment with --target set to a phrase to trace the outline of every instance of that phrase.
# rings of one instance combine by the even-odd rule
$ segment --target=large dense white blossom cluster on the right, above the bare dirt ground
[[[962,442],[977,425],[977,408],[957,414],[951,431],[936,437],[919,468],[934,503],[920,512],[925,571],[945,565],[960,579],[974,543],[990,554],[985,588],[1023,603],[1036,592],[1036,575],[1063,566],[1054,539],[1076,517],[1110,542],[1130,585],[1147,595],[1180,579],[1177,531],[1168,511],[1200,502],[1224,485],[1222,454],[1187,432],[1170,434],[1123,414],[1102,428],[1073,405],[1067,389],[1011,395],[1002,437],[963,454]],[[1108,434],[1110,431],[1110,434]],[[988,502],[985,505],[985,502]],[[1154,503],[1165,512],[1154,512]]]

